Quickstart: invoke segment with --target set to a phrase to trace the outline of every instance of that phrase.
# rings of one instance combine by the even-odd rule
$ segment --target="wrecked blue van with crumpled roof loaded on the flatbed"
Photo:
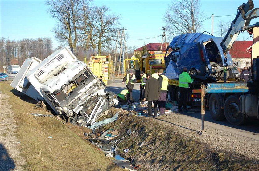
[[[222,39],[203,33],[187,33],[174,37],[167,47],[167,52],[171,53],[165,56],[166,76],[169,79],[179,79],[183,68],[187,68],[190,74],[222,78],[224,66],[233,68],[230,54],[223,54],[220,46]]]

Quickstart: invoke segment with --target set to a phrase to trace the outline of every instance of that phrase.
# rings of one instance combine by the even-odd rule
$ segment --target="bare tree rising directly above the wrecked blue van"
[[[168,6],[163,20],[175,35],[196,33],[202,27],[204,14],[200,12],[199,0],[175,0]]]

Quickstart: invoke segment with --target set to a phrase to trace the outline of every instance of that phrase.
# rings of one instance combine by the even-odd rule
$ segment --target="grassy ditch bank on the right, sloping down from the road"
[[[259,170],[256,160],[208,149],[206,143],[158,125],[152,118],[128,117],[124,113],[103,129],[111,128],[118,129],[120,137],[125,136],[130,128],[136,131],[118,144],[119,153],[134,159],[135,165],[140,165],[143,170]],[[129,152],[123,153],[123,149],[128,148]]]

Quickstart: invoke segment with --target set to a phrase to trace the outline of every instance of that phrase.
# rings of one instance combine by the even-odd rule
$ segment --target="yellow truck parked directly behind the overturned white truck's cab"
[[[113,60],[110,60],[110,57],[111,56],[91,56],[88,62],[86,58],[84,58],[84,63],[87,64],[93,74],[100,78],[105,85],[109,85],[115,80]]]

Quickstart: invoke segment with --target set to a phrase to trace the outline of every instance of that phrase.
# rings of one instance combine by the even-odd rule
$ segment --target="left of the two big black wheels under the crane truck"
[[[218,94],[212,94],[209,98],[209,109],[212,118],[216,121],[225,119],[223,110],[221,109],[221,98]]]

